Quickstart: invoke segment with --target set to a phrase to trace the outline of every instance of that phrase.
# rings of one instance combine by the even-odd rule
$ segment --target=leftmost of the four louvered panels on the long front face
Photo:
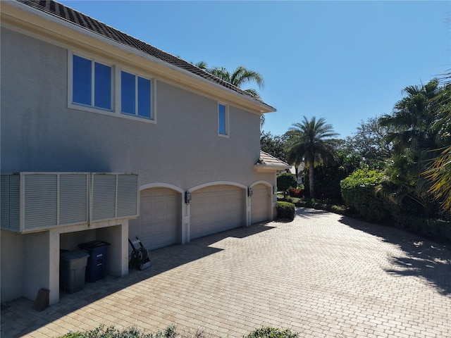
[[[57,225],[57,175],[25,175],[24,230]]]

